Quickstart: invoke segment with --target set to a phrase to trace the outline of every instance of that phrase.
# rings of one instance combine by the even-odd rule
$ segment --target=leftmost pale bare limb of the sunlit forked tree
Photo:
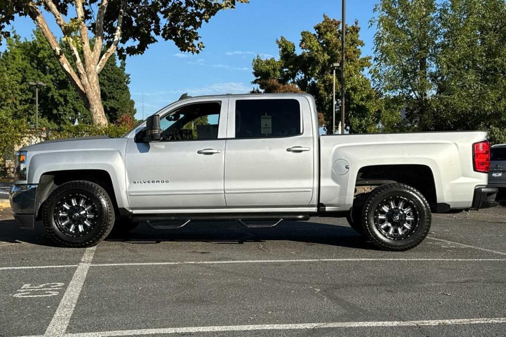
[[[63,53],[63,50],[60,48],[60,45],[58,44],[56,37],[51,32],[51,29],[49,29],[48,23],[44,19],[44,16],[42,15],[42,13],[40,13],[40,10],[37,8],[37,6],[34,3],[30,3],[28,6],[30,7],[31,11],[34,14],[35,22],[39,26],[43,35],[48,40],[49,46],[53,50],[53,53],[55,54],[56,58],[58,59],[58,62],[60,63],[63,71],[70,78],[70,82],[72,83],[74,88],[77,90],[77,93],[81,97],[86,97],[85,89],[82,86],[82,82],[81,82],[79,76],[77,76],[74,69],[72,69],[70,62],[67,60],[67,57]]]

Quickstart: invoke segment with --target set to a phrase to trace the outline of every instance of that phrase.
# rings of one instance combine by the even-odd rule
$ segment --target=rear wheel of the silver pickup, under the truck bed
[[[425,197],[404,184],[374,189],[362,210],[365,235],[378,248],[393,251],[416,247],[431,228],[431,209]]]

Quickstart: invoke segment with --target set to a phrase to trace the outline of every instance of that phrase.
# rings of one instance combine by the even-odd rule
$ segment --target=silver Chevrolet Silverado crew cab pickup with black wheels
[[[48,141],[17,152],[15,218],[56,243],[97,244],[140,222],[273,226],[347,217],[378,248],[406,250],[431,212],[478,209],[485,132],[319,135],[306,94],[183,95],[122,138]]]

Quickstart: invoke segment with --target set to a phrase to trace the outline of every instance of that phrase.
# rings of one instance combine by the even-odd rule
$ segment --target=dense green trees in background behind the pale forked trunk
[[[7,39],[7,47],[0,54],[2,115],[35,124],[35,94],[28,82],[42,81],[46,87],[39,89],[39,125],[56,129],[76,121],[91,122],[90,111],[80,100],[39,30],[33,32],[32,40],[24,41],[14,33]],[[125,73],[124,62],[118,66],[112,56],[99,78],[104,87],[101,94],[108,120],[115,122],[121,115],[133,117],[134,102],[130,99],[130,78]]]

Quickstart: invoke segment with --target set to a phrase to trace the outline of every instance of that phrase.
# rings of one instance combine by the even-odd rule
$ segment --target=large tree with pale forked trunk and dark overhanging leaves
[[[120,56],[142,54],[161,37],[173,40],[182,51],[198,53],[203,48],[197,33],[202,23],[220,10],[247,1],[1,0],[0,37],[9,36],[6,26],[15,15],[29,16],[48,40],[75,91],[90,109],[93,123],[104,125],[107,118],[101,101],[99,73],[116,50]],[[74,64],[50,30],[43,11],[54,16]],[[65,20],[74,14],[75,17]],[[91,34],[94,35],[93,45]]]

